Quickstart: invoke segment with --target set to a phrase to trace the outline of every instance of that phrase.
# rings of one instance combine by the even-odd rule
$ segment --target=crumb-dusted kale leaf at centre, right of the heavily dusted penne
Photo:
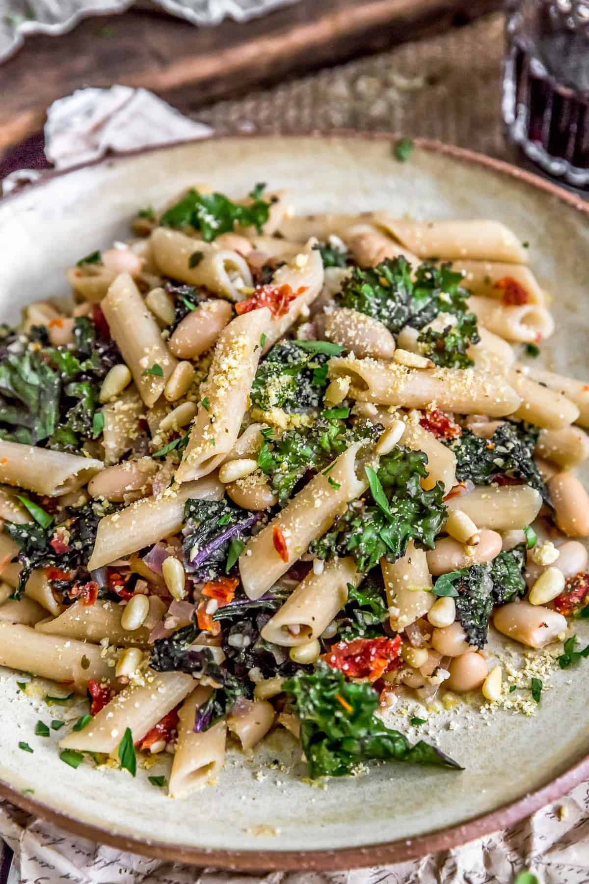
[[[318,342],[313,341],[315,343]],[[263,411],[319,408],[323,388],[328,384],[328,358],[328,354],[318,350],[307,352],[296,341],[276,344],[253,378],[250,393],[253,406]]]

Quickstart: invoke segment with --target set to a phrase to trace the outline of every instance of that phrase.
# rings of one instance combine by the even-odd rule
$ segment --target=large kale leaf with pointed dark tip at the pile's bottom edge
[[[313,673],[299,672],[283,688],[296,703],[300,739],[314,780],[353,773],[372,758],[462,770],[442,751],[420,740],[411,746],[374,715],[379,695],[367,682],[348,682],[344,674],[319,663]]]

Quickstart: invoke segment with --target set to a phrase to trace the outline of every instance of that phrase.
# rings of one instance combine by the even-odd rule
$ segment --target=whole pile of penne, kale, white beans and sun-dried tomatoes
[[[527,244],[264,185],[132,230],[0,328],[0,665],[88,698],[66,764],[168,753],[174,797],[271,728],[312,779],[460,769],[382,709],[496,704],[492,629],[589,655],[589,385],[534,363]]]

